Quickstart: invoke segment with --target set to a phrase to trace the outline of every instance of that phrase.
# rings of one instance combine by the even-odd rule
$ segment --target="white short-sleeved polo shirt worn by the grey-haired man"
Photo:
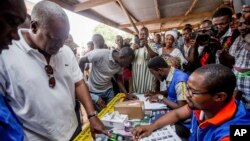
[[[38,50],[31,48],[19,30],[20,41],[13,41],[2,59],[11,86],[6,97],[23,124],[28,140],[66,141],[77,128],[75,83],[83,79],[72,50],[63,46],[52,55],[56,85],[49,87],[45,71],[47,61]]]

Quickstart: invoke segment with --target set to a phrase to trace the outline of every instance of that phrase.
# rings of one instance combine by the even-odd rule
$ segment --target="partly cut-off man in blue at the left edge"
[[[8,49],[11,41],[19,40],[17,27],[24,22],[26,7],[23,0],[0,1],[0,55],[3,49]],[[0,140],[22,141],[24,133],[20,122],[10,109],[6,91],[10,88],[5,66],[0,58]]]

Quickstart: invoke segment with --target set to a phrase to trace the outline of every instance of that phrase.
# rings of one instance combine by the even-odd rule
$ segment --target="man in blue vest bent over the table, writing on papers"
[[[171,67],[167,59],[156,56],[148,63],[150,72],[161,82],[166,83],[166,91],[160,93],[145,93],[150,102],[162,102],[170,109],[176,109],[187,104],[185,93],[187,92],[186,82],[188,75],[183,71]],[[175,126],[177,134],[187,139],[189,137],[190,119],[181,121]]]

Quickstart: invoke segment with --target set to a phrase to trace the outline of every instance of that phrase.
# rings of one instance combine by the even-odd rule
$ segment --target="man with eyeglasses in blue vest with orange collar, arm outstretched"
[[[133,130],[135,139],[192,118],[190,141],[229,141],[230,125],[250,124],[250,113],[233,97],[236,78],[228,67],[209,64],[196,69],[187,82],[187,105],[172,110],[150,125]]]

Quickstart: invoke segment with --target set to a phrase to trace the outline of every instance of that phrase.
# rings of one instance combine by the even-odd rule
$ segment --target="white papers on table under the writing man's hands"
[[[163,103],[151,103],[147,100],[147,97],[144,94],[135,94],[140,101],[144,102],[145,110],[159,110],[159,109],[167,109],[167,106]]]

